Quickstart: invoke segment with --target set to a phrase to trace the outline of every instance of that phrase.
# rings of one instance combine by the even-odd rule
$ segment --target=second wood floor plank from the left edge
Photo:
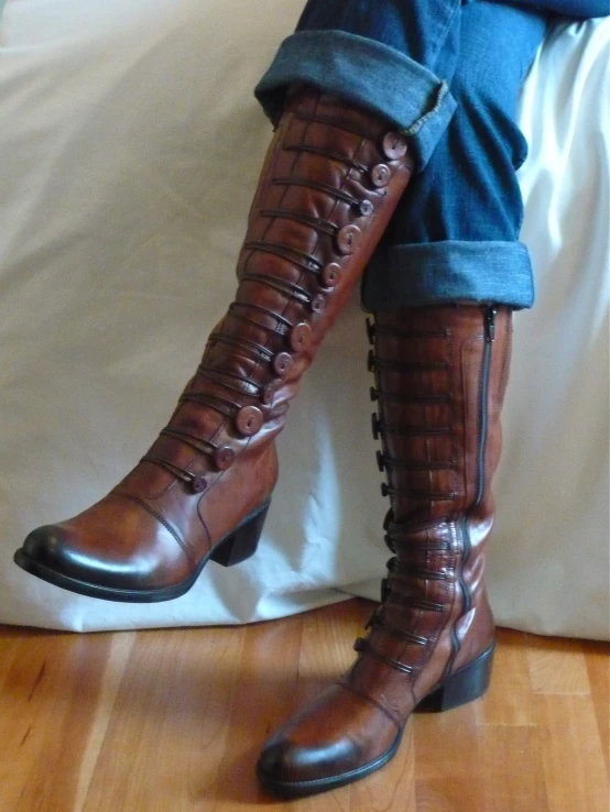
[[[84,812],[206,809],[231,733],[244,636],[244,628],[139,633]]]

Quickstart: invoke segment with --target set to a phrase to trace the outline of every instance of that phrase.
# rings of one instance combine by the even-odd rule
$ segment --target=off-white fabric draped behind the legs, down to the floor
[[[163,604],[12,563],[148,448],[233,292],[270,128],[252,87],[303,0],[9,0],[0,21],[0,622],[240,623],[377,596],[388,553],[358,304],[280,439],[262,549]],[[559,25],[527,81],[524,239],[489,582],[500,623],[608,637],[610,21]],[[297,461],[292,465],[292,461]]]

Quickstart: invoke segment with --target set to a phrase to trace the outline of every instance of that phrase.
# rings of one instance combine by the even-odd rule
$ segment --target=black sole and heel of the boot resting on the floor
[[[414,713],[449,711],[482,696],[489,688],[494,648],[495,645],[491,645],[476,660],[462,666],[442,685],[433,689],[416,705]],[[399,731],[391,747],[380,758],[338,776],[316,778],[311,781],[279,781],[265,772],[260,765],[257,765],[257,776],[265,790],[280,798],[303,798],[304,795],[338,789],[361,778],[367,778],[367,776],[384,767],[396,755],[403,733],[404,727]]]

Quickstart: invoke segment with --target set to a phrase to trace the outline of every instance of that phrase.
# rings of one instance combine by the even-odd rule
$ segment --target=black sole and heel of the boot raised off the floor
[[[64,575],[61,572],[52,570],[50,567],[45,567],[45,564],[26,556],[22,549],[17,550],[13,561],[31,575],[52,583],[54,586],[59,586],[61,589],[76,592],[87,597],[99,597],[105,601],[119,601],[122,603],[159,603],[161,601],[172,601],[188,592],[201,574],[201,570],[208,561],[215,561],[222,567],[233,567],[253,556],[257,551],[269,506],[270,502],[266,502],[221,538],[197,564],[197,569],[190,578],[181,583],[161,589],[131,590],[89,583],[88,581]]]

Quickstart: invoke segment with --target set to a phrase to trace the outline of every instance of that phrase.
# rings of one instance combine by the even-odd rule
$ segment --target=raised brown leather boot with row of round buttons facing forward
[[[288,402],[411,168],[405,139],[385,120],[296,88],[252,202],[236,300],[170,424],[101,502],[30,534],[20,567],[85,595],[165,601],[209,559],[229,567],[254,552]]]

